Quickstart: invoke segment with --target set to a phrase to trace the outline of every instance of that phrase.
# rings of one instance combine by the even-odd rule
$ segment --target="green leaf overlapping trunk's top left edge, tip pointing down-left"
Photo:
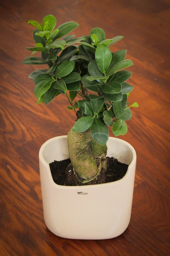
[[[77,120],[77,122],[73,126],[73,131],[76,131],[76,132],[87,131],[88,128],[91,127],[93,121],[94,121],[93,116],[83,116]]]

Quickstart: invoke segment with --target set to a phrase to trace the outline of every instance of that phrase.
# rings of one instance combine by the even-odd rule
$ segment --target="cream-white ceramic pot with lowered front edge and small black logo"
[[[109,157],[129,165],[118,181],[100,185],[60,186],[49,163],[68,156],[67,136],[46,141],[39,152],[45,224],[57,236],[70,239],[110,239],[121,235],[130,222],[136,152],[124,140],[109,137]]]

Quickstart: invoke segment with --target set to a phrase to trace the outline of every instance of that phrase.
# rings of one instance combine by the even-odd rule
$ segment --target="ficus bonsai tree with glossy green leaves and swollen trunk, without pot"
[[[77,116],[68,132],[69,156],[74,174],[87,183],[96,179],[102,168],[107,169],[108,126],[115,136],[126,134],[125,121],[132,117],[130,108],[138,107],[136,102],[127,102],[133,86],[126,81],[132,74],[122,70],[133,62],[125,60],[126,50],[111,52],[109,48],[123,36],[106,39],[103,29],[94,28],[90,35],[75,38],[67,34],[79,24],[70,21],[54,29],[53,15],[44,17],[42,26],[34,20],[27,23],[37,28],[33,32],[34,47],[26,48],[31,57],[23,64],[47,65],[29,75],[34,79],[37,104],[48,104],[59,94],[67,97],[68,110]],[[32,56],[38,52],[41,57]],[[75,101],[77,94],[82,99]]]

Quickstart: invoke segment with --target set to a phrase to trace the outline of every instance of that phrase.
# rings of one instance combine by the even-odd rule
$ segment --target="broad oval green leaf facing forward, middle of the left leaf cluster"
[[[74,70],[73,61],[63,61],[56,69],[56,77],[61,78],[69,75]]]

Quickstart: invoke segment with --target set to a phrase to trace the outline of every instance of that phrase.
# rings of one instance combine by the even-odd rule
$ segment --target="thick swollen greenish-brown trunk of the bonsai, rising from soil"
[[[97,178],[102,168],[107,169],[107,146],[97,143],[90,129],[85,132],[68,133],[68,152],[74,168],[74,174],[83,179],[82,183]]]

